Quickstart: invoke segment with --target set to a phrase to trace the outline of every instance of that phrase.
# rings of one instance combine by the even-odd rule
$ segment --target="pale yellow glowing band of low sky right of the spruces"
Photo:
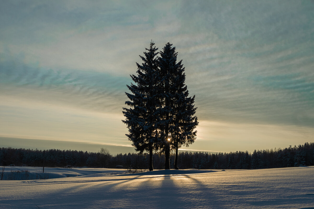
[[[230,123],[200,120],[195,143],[189,148],[207,147],[224,152],[286,148],[314,141],[310,127],[278,124]],[[224,142],[224,143],[222,143]],[[203,149],[201,149],[203,150]]]

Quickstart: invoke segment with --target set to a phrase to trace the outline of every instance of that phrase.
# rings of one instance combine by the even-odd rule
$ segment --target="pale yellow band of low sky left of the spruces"
[[[123,115],[120,112],[87,111],[10,97],[3,101],[10,116],[1,117],[2,136],[121,146],[130,144],[121,131],[125,125],[121,121]]]

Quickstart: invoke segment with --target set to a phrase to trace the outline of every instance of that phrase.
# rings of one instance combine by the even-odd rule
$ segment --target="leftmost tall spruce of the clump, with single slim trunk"
[[[140,154],[149,152],[149,170],[153,170],[153,150],[160,141],[158,110],[161,100],[156,88],[160,83],[157,50],[152,41],[144,56],[140,56],[143,63],[142,65],[136,63],[137,75],[130,75],[134,84],[127,85],[131,93],[125,92],[130,99],[125,104],[130,108],[123,108],[122,111],[126,117],[122,122],[127,124],[129,129],[129,134],[126,135],[132,141],[135,150]]]

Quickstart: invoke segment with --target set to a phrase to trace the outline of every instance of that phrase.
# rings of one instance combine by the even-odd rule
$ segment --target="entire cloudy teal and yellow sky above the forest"
[[[0,147],[134,152],[125,92],[151,40],[195,95],[181,151],[314,141],[314,2],[0,1]]]

